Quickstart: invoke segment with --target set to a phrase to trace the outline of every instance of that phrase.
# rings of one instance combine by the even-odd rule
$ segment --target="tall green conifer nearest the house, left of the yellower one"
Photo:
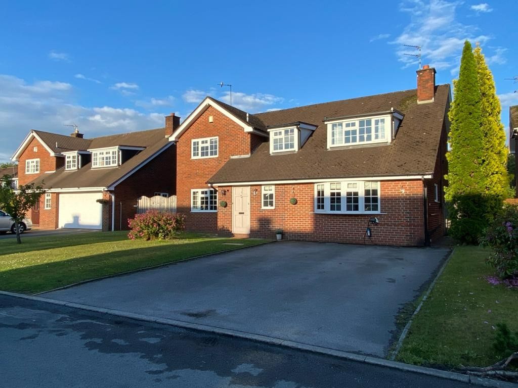
[[[467,40],[459,77],[454,82],[454,100],[449,117],[451,152],[447,155],[448,187],[444,191],[446,199],[454,201],[456,196],[479,195],[485,190],[481,168],[483,133],[477,63]]]

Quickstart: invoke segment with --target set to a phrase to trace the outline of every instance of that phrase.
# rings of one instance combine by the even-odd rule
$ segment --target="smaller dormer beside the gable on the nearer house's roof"
[[[313,124],[296,122],[268,128],[270,154],[297,152],[316,127]]]

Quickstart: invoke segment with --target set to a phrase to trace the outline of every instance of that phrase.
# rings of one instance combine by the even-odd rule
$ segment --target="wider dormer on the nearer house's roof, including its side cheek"
[[[403,115],[395,110],[376,116],[326,119],[327,148],[372,143],[390,143]],[[394,123],[394,125],[393,125]]]

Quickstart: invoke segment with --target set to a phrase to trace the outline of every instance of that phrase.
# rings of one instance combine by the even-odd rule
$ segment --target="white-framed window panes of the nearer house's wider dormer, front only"
[[[351,120],[334,121],[327,124],[328,148],[387,142],[391,125],[390,116],[362,117]]]

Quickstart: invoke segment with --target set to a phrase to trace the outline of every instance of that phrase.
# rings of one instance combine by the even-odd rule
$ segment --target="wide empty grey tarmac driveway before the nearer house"
[[[447,253],[285,241],[41,296],[384,356]]]

